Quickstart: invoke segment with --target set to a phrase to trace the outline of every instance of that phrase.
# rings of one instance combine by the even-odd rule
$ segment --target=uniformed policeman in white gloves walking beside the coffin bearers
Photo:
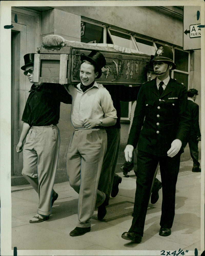
[[[171,234],[180,154],[183,152],[181,145],[189,132],[186,87],[169,76],[169,71],[176,68],[171,48],[160,46],[152,61],[157,77],[141,86],[125,148],[125,158],[130,161],[138,144],[134,217],[129,231],[122,234],[123,239],[136,243],[141,242],[143,236],[158,162],[163,195],[159,235]]]

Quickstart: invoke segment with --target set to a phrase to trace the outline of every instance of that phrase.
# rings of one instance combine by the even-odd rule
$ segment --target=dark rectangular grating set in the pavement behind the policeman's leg
[[[124,201],[124,202],[120,202],[120,203],[115,203],[115,204],[110,204],[108,206],[106,206],[107,209],[107,213],[105,215],[105,218],[103,219],[103,221],[108,222],[111,220],[116,220],[118,218],[122,218],[128,215],[132,215],[133,213],[133,208],[134,208],[134,203],[133,202],[129,202],[129,201]],[[153,206],[148,206],[147,210],[153,209],[155,207]],[[92,216],[92,219],[97,220],[98,216],[97,216],[97,208],[94,211],[94,214]]]

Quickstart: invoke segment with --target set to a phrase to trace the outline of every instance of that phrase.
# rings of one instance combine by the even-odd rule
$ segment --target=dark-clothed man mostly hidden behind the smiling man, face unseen
[[[124,85],[103,85],[110,93],[113,105],[117,110],[117,122],[113,126],[105,127],[107,132],[107,150],[103,160],[103,166],[100,174],[98,189],[108,195],[107,200],[98,207],[98,220],[103,220],[109,204],[110,195],[115,197],[119,191],[118,185],[122,178],[115,173],[117,165],[119,146],[120,146],[120,117],[121,107],[120,101],[129,102],[137,99],[140,86],[124,86]]]

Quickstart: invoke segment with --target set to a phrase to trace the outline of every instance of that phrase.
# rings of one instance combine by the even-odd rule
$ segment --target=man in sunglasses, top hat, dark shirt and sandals
[[[57,127],[60,102],[71,104],[71,96],[60,84],[33,83],[34,53],[24,55],[24,75],[33,85],[23,112],[23,129],[16,152],[22,152],[22,175],[39,196],[37,214],[30,223],[49,219],[52,205],[58,194],[53,190],[58,162],[60,134]],[[23,142],[26,142],[23,147]]]

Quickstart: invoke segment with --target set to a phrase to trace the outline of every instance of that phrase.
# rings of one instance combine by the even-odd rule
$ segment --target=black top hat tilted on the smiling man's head
[[[98,51],[92,51],[88,56],[86,55],[81,55],[80,56],[80,60],[81,61],[89,61],[90,63],[92,63],[95,68],[97,69],[96,72],[98,72],[98,76],[96,78],[99,78],[102,74],[102,68],[106,65],[106,60],[105,57],[103,56],[102,53],[98,52]]]

